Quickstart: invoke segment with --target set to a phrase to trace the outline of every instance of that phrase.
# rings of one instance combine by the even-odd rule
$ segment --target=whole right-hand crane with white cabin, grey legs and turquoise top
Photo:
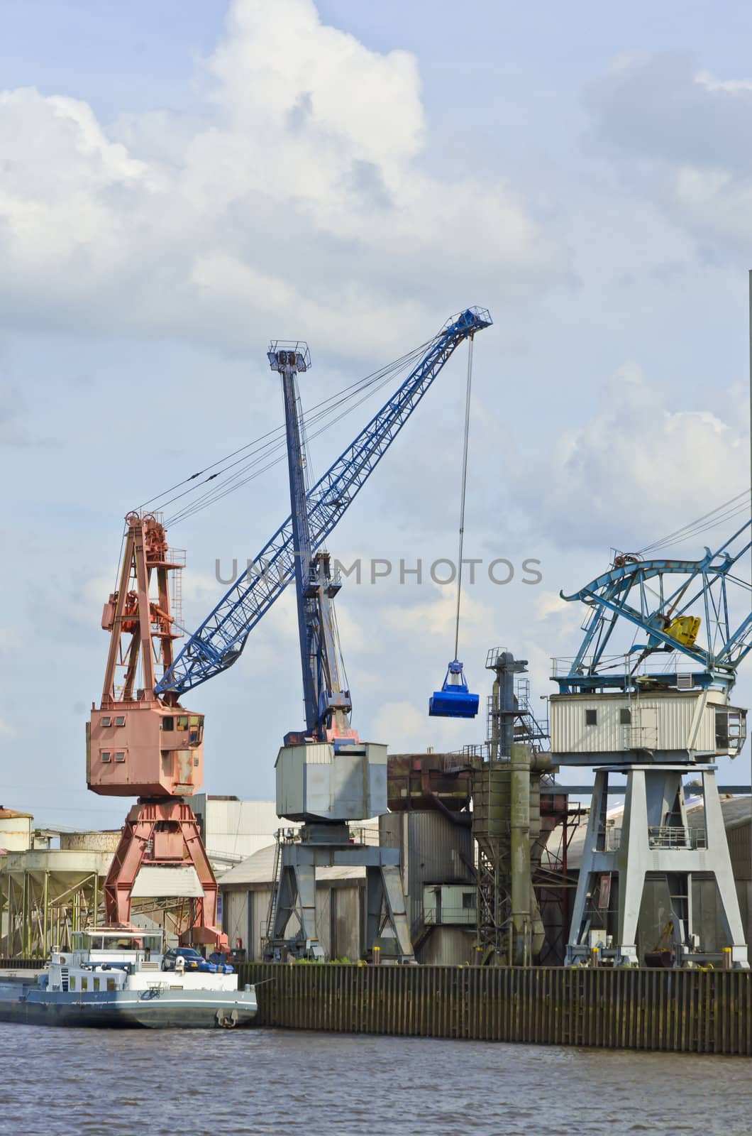
[[[730,704],[730,693],[752,649],[751,588],[738,575],[752,549],[751,527],[747,521],[696,560],[617,553],[608,571],[561,593],[590,616],[577,654],[554,670],[551,752],[559,765],[595,767],[570,963],[590,961],[593,952],[617,966],[638,961],[650,880],[663,888],[675,966],[749,966],[716,761],[736,757],[746,736],[746,710]],[[624,641],[626,632],[632,642]],[[615,787],[615,777],[626,784]],[[700,827],[687,820],[685,778],[702,782]],[[609,793],[625,796],[620,828],[608,820]],[[726,938],[720,952],[701,941],[693,909],[700,879],[716,883]]]

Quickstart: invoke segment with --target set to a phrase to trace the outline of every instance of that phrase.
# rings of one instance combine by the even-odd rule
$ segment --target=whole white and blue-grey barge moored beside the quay
[[[166,951],[161,934],[94,927],[53,949],[36,982],[0,980],[0,1021],[109,1028],[233,1029],[250,1026],[256,988],[232,966]],[[187,958],[186,958],[187,957]]]

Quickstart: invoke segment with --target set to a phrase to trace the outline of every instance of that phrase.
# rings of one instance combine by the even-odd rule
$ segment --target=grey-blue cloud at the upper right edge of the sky
[[[586,102],[592,156],[612,162],[705,253],[749,253],[752,80],[718,78],[688,56],[627,56],[591,85]]]

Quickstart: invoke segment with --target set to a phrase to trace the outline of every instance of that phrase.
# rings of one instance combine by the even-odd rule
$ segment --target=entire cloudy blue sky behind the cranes
[[[453,312],[491,310],[465,538],[483,567],[460,654],[483,703],[490,648],[529,660],[544,712],[550,659],[582,635],[559,591],[750,482],[752,12],[5,0],[1,15],[1,803],[122,822],[124,802],[86,792],[84,722],[123,518],[279,424],[270,337],[309,342],[306,407]],[[456,557],[465,367],[460,350],[331,537],[341,560]],[[312,440],[316,476],[377,407]],[[283,463],[169,528],[186,626],[223,594],[217,561],[252,557],[287,500]],[[499,558],[507,584],[487,575]],[[451,587],[365,576],[337,601],[360,735],[395,752],[484,741],[483,713],[426,712],[453,654]],[[742,704],[751,685],[743,671]],[[185,701],[207,716],[208,792],[271,797],[302,724],[290,591]],[[745,780],[747,759],[721,775]]]

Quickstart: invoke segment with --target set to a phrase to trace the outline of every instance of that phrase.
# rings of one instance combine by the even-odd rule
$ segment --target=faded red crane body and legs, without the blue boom
[[[131,924],[133,885],[142,868],[147,879],[152,874],[154,894],[167,895],[174,894],[165,887],[169,876],[156,876],[153,869],[192,867],[195,894],[181,941],[222,950],[227,936],[217,927],[217,880],[185,800],[203,783],[203,715],[186,710],[174,692],[154,692],[173,665],[179,637],[172,595],[184,554],[168,548],[156,516],[132,512],[126,525],[118,590],[102,613],[102,627],[110,633],[105,687],[86,727],[89,788],[103,796],[139,797],[105,882],[106,920]]]

